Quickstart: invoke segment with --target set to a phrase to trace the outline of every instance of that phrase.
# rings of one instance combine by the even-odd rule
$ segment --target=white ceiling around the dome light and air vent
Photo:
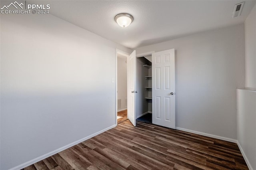
[[[49,1],[50,14],[108,40],[134,49],[197,32],[243,23],[256,0],[246,0],[241,16],[234,5],[244,0]],[[44,3],[46,3],[44,1]],[[129,13],[134,22],[121,28],[114,21]]]

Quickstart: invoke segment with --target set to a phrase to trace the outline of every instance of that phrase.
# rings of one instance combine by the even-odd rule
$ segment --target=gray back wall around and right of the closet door
[[[236,139],[236,88],[244,86],[244,24],[140,47],[175,48],[176,126]]]

